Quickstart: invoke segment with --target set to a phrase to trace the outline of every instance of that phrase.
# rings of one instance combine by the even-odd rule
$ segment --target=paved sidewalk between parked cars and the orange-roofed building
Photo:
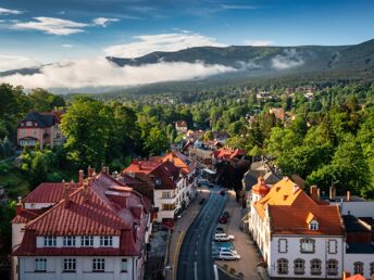
[[[221,267],[226,264],[228,269],[235,269],[236,275],[241,272],[244,275],[244,279],[261,279],[255,267],[255,265],[261,260],[261,254],[258,252],[255,246],[251,244],[249,236],[240,230],[240,225],[242,225],[242,207],[236,202],[234,191],[228,191],[227,195],[229,195],[229,200],[227,201],[225,211],[229,213],[229,218],[226,225],[220,226],[225,228],[227,234],[235,236],[233,243],[241,258],[240,260],[235,262],[216,260],[216,264]]]

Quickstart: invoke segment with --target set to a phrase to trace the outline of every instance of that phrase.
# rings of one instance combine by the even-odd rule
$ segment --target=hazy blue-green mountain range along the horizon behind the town
[[[290,75],[337,75],[340,78],[359,75],[374,76],[374,39],[352,46],[301,47],[195,47],[175,52],[152,52],[136,59],[105,58],[119,67],[142,66],[160,63],[203,63],[223,65],[229,72],[203,77],[203,80],[233,81],[252,77]],[[42,67],[42,66],[41,66]],[[13,69],[0,73],[0,77],[14,74],[33,75],[41,67]],[[105,87],[105,90],[110,89]],[[116,87],[117,88],[117,87]]]

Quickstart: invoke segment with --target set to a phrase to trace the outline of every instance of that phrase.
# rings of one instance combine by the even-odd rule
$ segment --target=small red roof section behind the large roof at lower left
[[[70,182],[72,189],[76,189],[78,183]],[[32,191],[24,200],[24,203],[57,203],[64,196],[64,182],[42,182]]]

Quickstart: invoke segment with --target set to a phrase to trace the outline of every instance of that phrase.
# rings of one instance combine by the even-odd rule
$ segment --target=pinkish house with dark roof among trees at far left
[[[37,143],[40,148],[49,144],[51,148],[61,145],[65,141],[60,124],[62,112],[33,112],[21,120],[17,126],[17,144],[18,147],[35,147]]]

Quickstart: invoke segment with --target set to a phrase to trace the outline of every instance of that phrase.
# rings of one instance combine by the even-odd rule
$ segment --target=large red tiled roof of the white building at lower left
[[[85,193],[86,192],[86,193]],[[73,189],[68,205],[61,200],[29,221],[15,255],[138,255],[145,238],[150,201],[102,173],[86,189]],[[139,226],[136,231],[135,225]],[[36,236],[120,236],[119,249],[36,249]],[[136,237],[136,238],[134,238]]]

